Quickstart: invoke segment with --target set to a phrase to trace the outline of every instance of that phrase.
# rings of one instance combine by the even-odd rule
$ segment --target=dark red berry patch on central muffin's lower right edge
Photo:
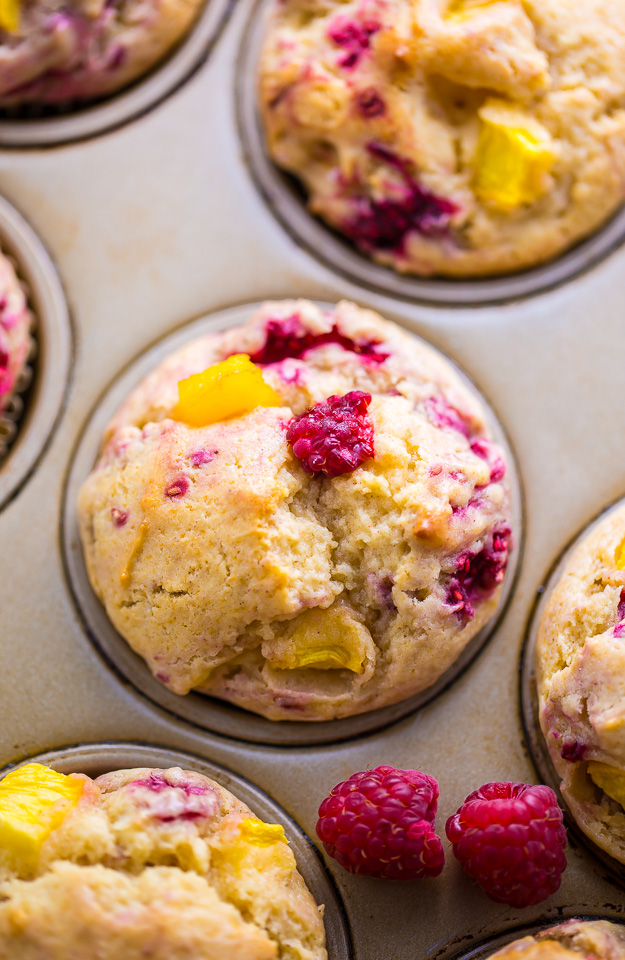
[[[456,560],[445,603],[463,623],[473,619],[475,605],[489,597],[502,582],[508,566],[509,542],[510,530],[504,527],[493,533],[491,544],[479,553],[463,553]]]

